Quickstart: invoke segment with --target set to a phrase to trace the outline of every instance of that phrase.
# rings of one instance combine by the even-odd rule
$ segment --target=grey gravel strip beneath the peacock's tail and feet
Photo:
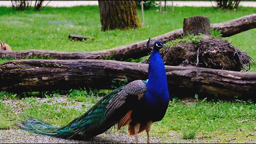
[[[78,141],[31,134],[20,129],[0,131],[0,143],[134,143],[134,141],[134,137],[130,137],[129,134],[126,133],[103,133],[88,141]],[[140,135],[139,143],[145,142],[146,137]],[[152,137],[151,143],[161,143],[161,141],[156,137]]]

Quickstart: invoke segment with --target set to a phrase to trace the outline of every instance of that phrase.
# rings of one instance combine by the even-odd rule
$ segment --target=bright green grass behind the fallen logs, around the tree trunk
[[[17,12],[12,11],[11,7],[0,7],[0,39],[5,39],[14,51],[99,51],[143,41],[182,28],[183,18],[186,17],[204,15],[209,17],[211,23],[219,23],[255,12],[253,7],[239,7],[237,11],[213,7],[175,7],[172,13],[171,7],[167,7],[166,14],[156,12],[156,9],[145,11],[145,25],[139,29],[102,32],[98,6],[46,7],[39,12]],[[138,13],[141,19],[141,11]],[[92,36],[95,40],[72,42],[68,39],[69,34]],[[256,59],[255,37],[256,29],[251,29],[225,39]],[[255,71],[253,66],[251,72]]]

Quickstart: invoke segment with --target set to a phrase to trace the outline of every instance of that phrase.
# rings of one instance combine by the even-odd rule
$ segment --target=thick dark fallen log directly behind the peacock
[[[256,94],[256,73],[166,66],[170,94],[217,94],[225,98]],[[15,60],[0,65],[0,90],[10,92],[109,89],[113,78],[147,79],[148,65],[112,60]],[[190,95],[191,96],[191,95]]]

